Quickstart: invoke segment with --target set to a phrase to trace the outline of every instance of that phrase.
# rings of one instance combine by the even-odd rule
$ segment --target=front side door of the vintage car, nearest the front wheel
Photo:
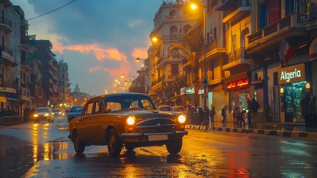
[[[100,143],[102,142],[102,138],[104,133],[101,133],[101,119],[102,119],[102,105],[101,100],[96,99],[93,104],[93,113],[88,118],[88,130],[90,131],[90,134],[93,135],[91,140],[92,143]]]

